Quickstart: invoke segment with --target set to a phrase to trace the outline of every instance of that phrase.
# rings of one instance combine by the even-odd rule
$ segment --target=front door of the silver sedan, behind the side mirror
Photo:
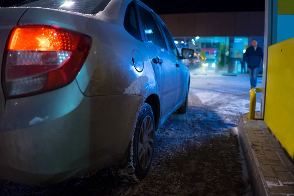
[[[181,104],[185,98],[186,90],[185,90],[185,73],[186,73],[186,66],[184,63],[179,59],[178,49],[174,44],[174,40],[172,38],[172,34],[170,33],[169,29],[166,25],[158,18],[158,22],[162,28],[163,34],[165,35],[168,50],[169,50],[169,57],[172,62],[172,65],[176,67],[176,88],[177,94],[175,99],[175,105]]]

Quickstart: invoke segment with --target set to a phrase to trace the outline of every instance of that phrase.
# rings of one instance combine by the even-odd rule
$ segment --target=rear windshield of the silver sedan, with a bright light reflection
[[[14,6],[60,9],[94,15],[103,11],[109,2],[110,0],[25,0]]]

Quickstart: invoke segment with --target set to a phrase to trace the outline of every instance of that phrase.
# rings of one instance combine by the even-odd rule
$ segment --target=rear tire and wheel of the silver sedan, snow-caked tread
[[[113,170],[113,174],[124,182],[137,183],[148,174],[154,149],[155,122],[151,106],[144,103],[138,114],[133,133],[129,158],[123,169]]]

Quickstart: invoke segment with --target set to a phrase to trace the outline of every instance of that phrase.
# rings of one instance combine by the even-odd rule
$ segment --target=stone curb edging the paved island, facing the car
[[[247,114],[245,114],[247,115]],[[238,133],[240,137],[240,144],[243,149],[245,157],[245,163],[248,170],[248,174],[251,180],[251,187],[254,196],[270,196],[270,190],[267,186],[265,176],[262,174],[260,164],[257,160],[256,154],[252,149],[252,143],[249,139],[245,128],[245,122],[243,115],[238,123]]]

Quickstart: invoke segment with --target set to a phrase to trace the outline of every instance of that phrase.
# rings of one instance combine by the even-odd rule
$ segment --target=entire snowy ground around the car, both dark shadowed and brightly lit
[[[261,78],[259,78],[261,86]],[[192,76],[189,112],[173,114],[156,133],[147,178],[135,185],[108,169],[57,185],[27,187],[0,181],[3,196],[250,196],[238,138],[232,131],[248,112],[249,78]],[[260,95],[257,98],[260,108]]]

